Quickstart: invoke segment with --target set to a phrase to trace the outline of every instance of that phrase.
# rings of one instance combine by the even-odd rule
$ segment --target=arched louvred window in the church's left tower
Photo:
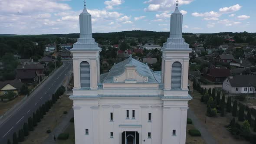
[[[81,88],[91,87],[90,64],[86,61],[80,63],[80,82]]]

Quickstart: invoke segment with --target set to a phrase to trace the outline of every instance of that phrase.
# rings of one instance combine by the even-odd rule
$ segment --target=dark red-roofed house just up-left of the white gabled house
[[[204,77],[211,82],[223,82],[228,76],[230,76],[230,69],[209,69]]]

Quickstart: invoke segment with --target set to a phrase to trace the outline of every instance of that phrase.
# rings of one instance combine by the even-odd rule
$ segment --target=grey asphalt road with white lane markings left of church
[[[36,88],[30,95],[31,98],[0,125],[0,144],[7,144],[8,139],[12,141],[14,132],[18,135],[19,129],[23,128],[23,124],[28,121],[29,117],[32,117],[33,112],[36,113],[39,106],[52,98],[52,94],[62,84],[66,75],[70,75],[71,69],[73,69],[72,62],[64,61],[62,67]]]

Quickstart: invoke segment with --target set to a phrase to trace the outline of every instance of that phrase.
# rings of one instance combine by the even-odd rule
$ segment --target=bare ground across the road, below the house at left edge
[[[20,95],[14,98],[12,101],[0,101],[0,115],[6,113],[6,111],[12,108],[13,105],[16,105],[18,102],[20,102],[24,97],[25,95]]]

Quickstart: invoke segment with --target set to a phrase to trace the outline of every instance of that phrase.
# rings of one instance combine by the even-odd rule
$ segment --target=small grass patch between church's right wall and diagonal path
[[[206,144],[202,137],[191,137],[188,130],[195,129],[193,124],[187,124],[186,144]]]

